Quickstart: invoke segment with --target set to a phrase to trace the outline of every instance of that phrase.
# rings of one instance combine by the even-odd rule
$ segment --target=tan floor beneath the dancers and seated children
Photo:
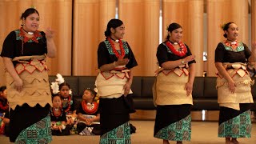
[[[136,126],[135,134],[132,134],[133,144],[157,144],[162,140],[153,137],[154,121],[131,121]],[[191,142],[184,144],[224,144],[224,138],[218,138],[218,122],[192,122]],[[239,138],[240,144],[256,144],[256,123],[253,123],[251,138]],[[99,136],[70,136],[53,137],[52,144],[98,144]],[[0,144],[7,144],[9,138],[0,136]],[[170,144],[175,142],[170,142]]]

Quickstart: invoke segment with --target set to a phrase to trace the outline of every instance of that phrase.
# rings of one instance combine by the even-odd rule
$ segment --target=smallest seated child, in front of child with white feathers
[[[66,113],[62,110],[61,97],[53,95],[53,107],[50,110],[51,130],[53,135],[70,135],[72,126],[66,124]]]

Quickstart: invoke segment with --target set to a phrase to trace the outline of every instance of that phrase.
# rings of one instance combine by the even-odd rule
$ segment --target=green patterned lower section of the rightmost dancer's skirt
[[[220,138],[250,138],[250,132],[250,110],[218,126],[218,137]]]

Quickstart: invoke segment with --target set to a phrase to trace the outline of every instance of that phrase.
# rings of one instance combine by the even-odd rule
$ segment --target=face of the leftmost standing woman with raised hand
[[[27,32],[34,32],[38,30],[39,27],[39,15],[37,13],[30,14],[26,17],[26,19],[23,18],[23,29],[25,29]]]

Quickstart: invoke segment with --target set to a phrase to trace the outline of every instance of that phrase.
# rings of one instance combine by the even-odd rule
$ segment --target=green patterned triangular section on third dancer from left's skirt
[[[182,118],[178,122],[174,122],[169,126],[159,130],[154,138],[161,138],[170,141],[190,141],[191,138],[191,116]]]

